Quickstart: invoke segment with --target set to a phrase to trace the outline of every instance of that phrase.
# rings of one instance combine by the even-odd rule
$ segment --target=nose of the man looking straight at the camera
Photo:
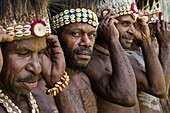
[[[93,40],[94,39],[90,39],[88,37],[88,34],[84,34],[82,37],[81,37],[81,42],[80,42],[80,46],[86,46],[86,47],[92,47],[93,46]]]

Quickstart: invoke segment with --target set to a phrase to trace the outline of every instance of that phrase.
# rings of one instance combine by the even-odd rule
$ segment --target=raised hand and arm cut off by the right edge
[[[157,21],[156,24],[157,34],[156,38],[159,44],[159,60],[161,62],[165,81],[166,81],[166,88],[167,88],[167,97],[166,99],[161,100],[161,104],[163,107],[164,112],[168,113],[169,110],[169,85],[170,85],[170,25],[165,21]]]

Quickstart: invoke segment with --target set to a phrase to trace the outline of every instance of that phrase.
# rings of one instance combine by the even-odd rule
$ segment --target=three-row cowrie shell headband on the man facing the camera
[[[67,9],[52,17],[52,27],[54,29],[80,22],[88,23],[96,28],[99,24],[97,15],[90,9],[85,8]]]

